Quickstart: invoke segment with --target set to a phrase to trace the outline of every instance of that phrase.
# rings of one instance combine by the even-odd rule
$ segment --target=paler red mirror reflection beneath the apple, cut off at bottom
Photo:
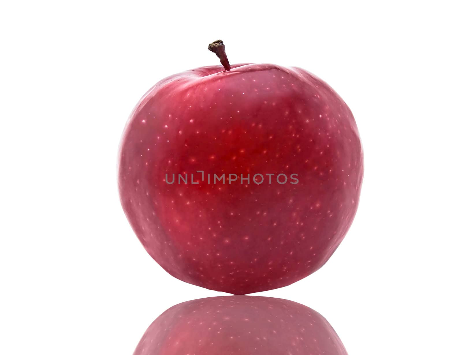
[[[272,297],[209,297],[177,304],[146,330],[134,355],[346,355],[328,321]]]

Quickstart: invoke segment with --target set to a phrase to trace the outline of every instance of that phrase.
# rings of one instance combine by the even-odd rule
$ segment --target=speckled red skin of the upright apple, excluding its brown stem
[[[118,180],[128,221],[159,265],[244,295],[294,283],[330,258],[358,207],[363,152],[353,114],[321,79],[273,64],[231,67],[152,87],[125,127]],[[207,184],[197,170],[239,180]],[[179,173],[199,183],[166,183]],[[298,184],[277,183],[280,173],[298,174]],[[271,184],[266,174],[276,174]]]

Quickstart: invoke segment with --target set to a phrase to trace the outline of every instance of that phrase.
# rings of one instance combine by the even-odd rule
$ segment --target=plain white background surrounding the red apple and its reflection
[[[322,313],[351,355],[456,354],[461,42],[456,1],[11,1],[1,26],[0,353],[132,354],[168,307],[222,295],[170,277],[122,212],[116,155],[161,78],[301,66],[356,117],[352,228],[315,274],[258,295]]]

